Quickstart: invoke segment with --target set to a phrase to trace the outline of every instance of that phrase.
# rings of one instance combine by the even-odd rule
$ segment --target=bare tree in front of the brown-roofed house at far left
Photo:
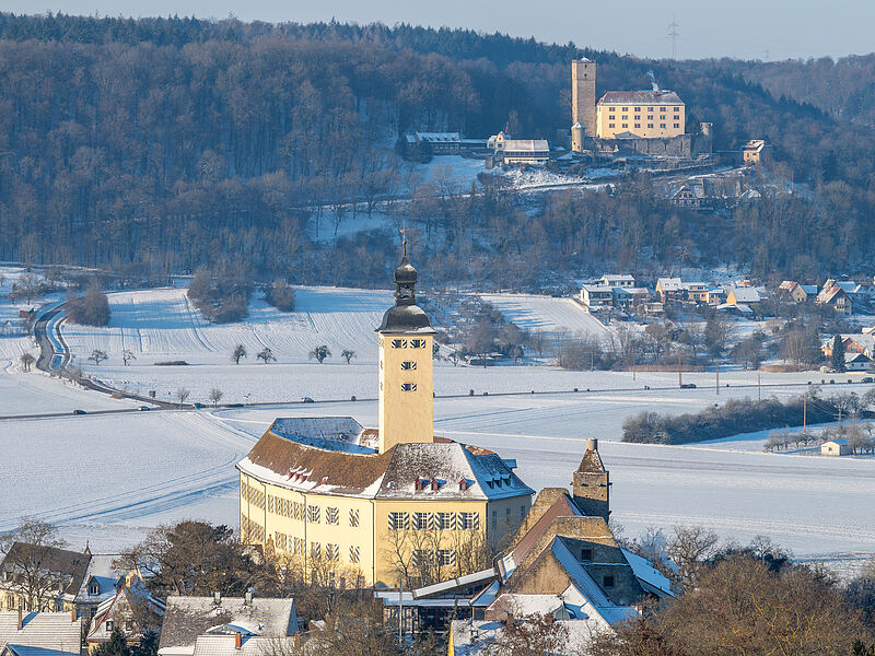
[[[57,549],[65,546],[58,529],[39,519],[25,518],[0,538],[5,553],[4,587],[27,611],[56,610],[56,599],[69,581],[52,567]]]

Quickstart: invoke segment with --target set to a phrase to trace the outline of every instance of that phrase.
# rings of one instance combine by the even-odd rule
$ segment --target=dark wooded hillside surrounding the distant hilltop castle
[[[598,93],[649,87],[653,75],[680,94],[691,117],[714,122],[716,149],[766,138],[788,177],[833,185],[827,201],[798,210],[827,233],[809,269],[864,257],[875,213],[872,130],[775,97],[743,77],[750,79],[751,65],[640,60],[409,25],[0,14],[0,259],[167,273],[217,266],[233,253],[257,272],[293,280],[382,280],[380,239],[341,241],[342,267],[311,242],[307,229],[323,209],[340,212],[350,199],[404,188],[392,144],[407,129],[486,137],[510,125],[552,139],[571,121],[570,60],[582,55],[599,65]],[[632,204],[603,199],[585,225],[571,221],[562,266],[606,266],[586,258],[617,253],[608,245],[640,234],[645,220],[654,244],[733,243],[693,236],[684,216],[664,221],[665,208],[644,196]],[[557,207],[573,204],[549,207],[556,221]],[[472,268],[471,254],[499,272],[524,262],[525,278],[537,280],[551,239],[547,219],[521,221],[494,198],[443,198],[420,211],[424,230],[446,237],[424,255],[456,262],[443,272],[450,280],[488,276]],[[791,267],[812,251],[808,214],[785,214],[750,219],[762,243],[744,243],[749,230],[738,236],[745,261]],[[514,238],[509,222],[518,223]],[[689,226],[701,230],[692,219]],[[788,234],[798,241],[790,249]],[[673,248],[652,253],[654,268],[676,263]]]

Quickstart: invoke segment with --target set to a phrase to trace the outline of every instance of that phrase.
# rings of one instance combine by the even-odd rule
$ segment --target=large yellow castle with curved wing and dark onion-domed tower
[[[394,587],[464,575],[528,512],[534,491],[515,461],[434,435],[434,329],[416,283],[405,253],[376,329],[377,430],[349,417],[277,419],[237,464],[242,541],[314,578]]]

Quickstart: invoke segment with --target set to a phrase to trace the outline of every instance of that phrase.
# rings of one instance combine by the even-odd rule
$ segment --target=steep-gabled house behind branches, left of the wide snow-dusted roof
[[[154,598],[137,572],[119,583],[115,595],[103,601],[94,613],[85,643],[89,653],[109,641],[115,629],[121,631],[128,646],[139,645],[149,631],[161,631],[165,604]]]

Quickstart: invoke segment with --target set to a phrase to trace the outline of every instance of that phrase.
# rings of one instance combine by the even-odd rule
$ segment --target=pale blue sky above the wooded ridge
[[[15,13],[195,15],[468,27],[678,59],[795,59],[875,51],[873,0],[0,0]]]

